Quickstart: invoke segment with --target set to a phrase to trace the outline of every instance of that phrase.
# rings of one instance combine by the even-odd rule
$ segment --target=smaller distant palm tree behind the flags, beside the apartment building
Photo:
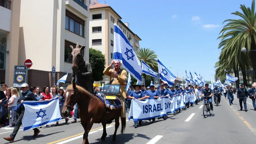
[[[149,48],[140,48],[139,51],[136,51],[136,54],[140,62],[143,60],[150,68],[155,72],[158,72],[157,55],[153,50],[150,50]],[[146,74],[143,74],[143,77],[146,80]],[[145,85],[148,86],[148,84]]]

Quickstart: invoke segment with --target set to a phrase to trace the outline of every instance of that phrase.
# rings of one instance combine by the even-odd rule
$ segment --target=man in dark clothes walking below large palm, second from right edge
[[[243,110],[242,103],[244,102],[244,110],[247,110],[247,105],[246,105],[246,99],[248,99],[248,93],[247,90],[244,88],[244,84],[240,84],[240,88],[237,90],[237,98],[239,100],[240,104],[240,111]]]

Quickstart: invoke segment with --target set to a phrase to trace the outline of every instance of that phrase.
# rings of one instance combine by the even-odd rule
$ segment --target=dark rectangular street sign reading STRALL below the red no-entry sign
[[[27,83],[27,66],[14,66],[13,87]]]

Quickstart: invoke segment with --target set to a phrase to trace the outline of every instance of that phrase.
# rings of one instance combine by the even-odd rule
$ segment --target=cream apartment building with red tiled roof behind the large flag
[[[114,48],[114,23],[122,29],[134,50],[139,50],[140,37],[129,28],[129,23],[123,23],[122,17],[109,5],[101,4],[97,0],[91,0],[89,46],[98,49],[105,54],[106,66],[113,60]],[[104,76],[101,82],[109,83],[110,78]]]

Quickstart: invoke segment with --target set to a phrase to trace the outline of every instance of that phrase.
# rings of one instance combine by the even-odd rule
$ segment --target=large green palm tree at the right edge
[[[241,54],[241,48],[246,47],[248,50],[256,50],[256,13],[255,3],[252,0],[251,8],[245,5],[240,5],[241,12],[233,12],[231,14],[240,17],[238,20],[226,20],[223,22],[227,23],[219,34],[221,39],[219,48],[224,46],[222,49],[223,55],[220,55],[220,64],[222,62],[228,62],[225,66],[229,66],[238,69],[250,69],[251,66],[256,75],[256,54],[255,51],[250,52],[250,62],[247,61],[246,56],[248,54]],[[225,50],[226,49],[226,50]],[[230,53],[229,53],[230,52]],[[221,60],[221,58],[223,58]],[[233,62],[232,62],[233,61]],[[223,66],[223,64],[221,64]],[[236,74],[236,72],[235,72]],[[238,77],[238,76],[237,76]],[[246,74],[245,79],[246,80]]]

